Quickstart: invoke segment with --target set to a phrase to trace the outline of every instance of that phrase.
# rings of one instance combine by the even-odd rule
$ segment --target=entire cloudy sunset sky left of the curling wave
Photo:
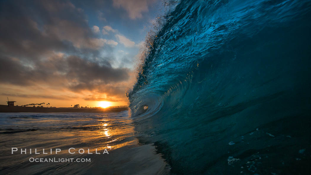
[[[156,0],[1,1],[1,103],[126,105]]]

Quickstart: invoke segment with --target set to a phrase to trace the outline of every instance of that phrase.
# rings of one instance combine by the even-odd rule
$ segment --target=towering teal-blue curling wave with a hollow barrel
[[[128,93],[172,174],[311,172],[311,2],[181,1]]]

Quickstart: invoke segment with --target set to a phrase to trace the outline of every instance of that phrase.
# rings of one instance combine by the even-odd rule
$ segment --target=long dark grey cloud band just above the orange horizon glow
[[[0,62],[0,74],[4,75],[0,81],[14,85],[49,84],[67,87],[74,92],[99,91],[102,88],[109,93],[120,94],[123,91],[124,94],[123,88],[110,84],[129,78],[127,68],[113,68],[109,62],[90,62],[77,56],[54,55],[32,66],[22,65],[19,60],[7,57],[0,57]]]

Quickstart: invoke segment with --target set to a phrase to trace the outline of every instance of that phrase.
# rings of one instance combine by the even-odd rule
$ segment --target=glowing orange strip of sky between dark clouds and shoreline
[[[80,104],[80,106],[89,107],[100,107],[100,101],[109,101],[112,106],[122,106],[127,105],[128,100],[126,99],[125,92],[124,95],[115,95],[115,94],[97,94],[98,96],[94,97],[92,92],[81,91],[80,93],[74,93],[69,90],[53,90],[53,89],[44,89],[39,87],[30,87],[20,90],[21,87],[14,85],[2,85],[0,87],[0,104],[7,104],[7,97],[10,101],[16,101],[15,105],[24,105],[30,103],[50,103],[50,106],[53,107],[71,107],[75,104]],[[34,88],[34,89],[32,89]],[[86,97],[97,98],[97,100],[86,100]],[[106,98],[105,98],[106,97]],[[101,100],[102,99],[102,100]]]

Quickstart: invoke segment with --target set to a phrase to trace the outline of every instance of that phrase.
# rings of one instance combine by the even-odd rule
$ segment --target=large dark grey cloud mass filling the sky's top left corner
[[[6,56],[35,59],[66,52],[96,57],[99,48],[112,49],[96,38],[84,11],[70,1],[1,1],[0,22],[0,51]]]

